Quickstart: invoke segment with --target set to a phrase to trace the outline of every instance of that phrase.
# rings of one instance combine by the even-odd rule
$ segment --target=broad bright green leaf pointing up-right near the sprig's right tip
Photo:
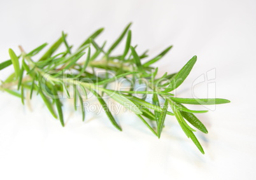
[[[175,76],[173,76],[171,83],[166,88],[166,90],[164,90],[164,92],[171,92],[172,90],[178,88],[187,78],[188,74],[196,63],[196,60],[196,56],[192,57],[192,59],[190,59],[187,64],[185,64],[185,66],[183,66],[182,69],[177,74],[175,74]]]

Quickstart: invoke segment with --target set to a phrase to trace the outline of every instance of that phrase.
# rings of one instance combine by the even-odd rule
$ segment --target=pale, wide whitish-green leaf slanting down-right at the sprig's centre
[[[110,97],[116,100],[118,103],[122,104],[125,108],[130,109],[135,114],[142,114],[139,108],[129,99],[127,99],[124,95],[118,92],[112,92],[110,90],[103,90],[105,93],[110,95]]]

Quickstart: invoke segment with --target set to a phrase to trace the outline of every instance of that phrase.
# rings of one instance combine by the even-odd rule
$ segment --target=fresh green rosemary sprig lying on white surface
[[[106,94],[137,114],[146,127],[159,138],[164,128],[166,116],[175,116],[187,137],[192,139],[201,153],[204,153],[201,144],[194,135],[196,130],[191,128],[190,125],[207,134],[208,130],[206,127],[194,115],[194,113],[206,113],[207,111],[190,110],[183,104],[211,105],[224,104],[230,101],[227,99],[187,99],[174,97],[174,94],[170,92],[178,88],[187,78],[196,63],[197,57],[192,57],[178,73],[166,73],[162,77],[156,78],[158,68],[152,67],[152,64],[162,59],[171,50],[172,46],[167,47],[166,50],[159,53],[153,59],[142,62],[142,59],[148,55],[146,55],[146,52],[138,55],[136,46],[131,45],[130,27],[131,24],[125,27],[122,34],[108,50],[104,50],[106,42],[102,46],[99,46],[96,42],[97,36],[104,29],[94,32],[75,51],[71,50],[73,46],[69,46],[66,39],[67,34],[62,32],[62,36],[38,60],[34,60],[34,56],[42,52],[47,43],[38,46],[29,53],[25,53],[22,47],[20,47],[21,52],[19,56],[10,49],[10,60],[2,62],[0,70],[12,64],[14,73],[5,81],[2,81],[0,89],[19,97],[22,103],[24,103],[24,94],[26,94],[24,90],[30,91],[30,98],[33,92],[39,93],[50,113],[54,118],[59,118],[62,126],[64,126],[65,121],[62,114],[61,93],[65,92],[69,99],[74,98],[75,110],[77,99],[79,99],[80,106],[82,107],[82,120],[84,120],[85,109],[83,100],[87,99],[88,92],[92,92],[99,100],[101,106],[103,106],[114,127],[122,130],[104,100],[103,94]],[[125,36],[127,38],[123,53],[121,55],[112,55],[113,50],[125,39]],[[58,52],[61,45],[66,47],[64,52]],[[87,55],[84,61],[81,61],[85,53]],[[100,55],[103,55],[103,57],[98,59]],[[98,70],[105,72],[104,76],[98,74]],[[113,76],[110,77],[109,73]],[[109,83],[118,83],[121,80],[131,82],[129,90],[107,88]],[[134,81],[145,85],[145,90],[136,90],[136,83]],[[146,96],[139,98],[138,94]],[[152,103],[148,102],[148,99],[152,99]],[[162,106],[160,99],[164,100]],[[171,107],[171,111],[168,110],[168,107]]]

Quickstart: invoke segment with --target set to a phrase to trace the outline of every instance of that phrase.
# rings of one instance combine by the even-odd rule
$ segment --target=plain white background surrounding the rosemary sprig
[[[8,48],[29,51],[61,31],[78,46],[105,27],[97,42],[110,45],[133,22],[132,45],[139,52],[149,49],[153,56],[174,45],[157,64],[160,75],[197,55],[178,96],[192,97],[192,82],[216,69],[216,95],[231,103],[199,115],[209,131],[197,133],[206,152],[201,155],[173,116],[159,140],[132,114],[117,117],[118,132],[104,114],[89,113],[83,123],[67,102],[62,128],[39,97],[31,112],[1,92],[0,179],[255,179],[255,8],[255,1],[223,0],[1,1],[0,62],[9,59]],[[11,71],[1,71],[0,79]],[[194,88],[198,97],[207,96],[207,83]]]

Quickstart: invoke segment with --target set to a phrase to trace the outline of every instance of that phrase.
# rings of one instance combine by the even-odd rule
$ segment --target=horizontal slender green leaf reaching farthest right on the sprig
[[[180,98],[180,97],[171,97],[171,100],[174,102],[179,102],[182,104],[195,104],[195,105],[213,105],[213,104],[225,104],[229,103],[230,100],[227,99],[190,99],[190,98]]]

